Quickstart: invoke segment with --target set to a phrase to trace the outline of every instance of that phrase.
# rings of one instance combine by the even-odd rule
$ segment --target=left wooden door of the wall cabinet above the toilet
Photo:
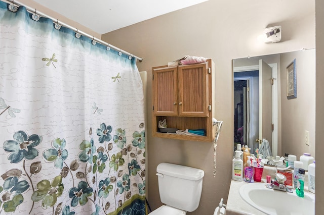
[[[177,67],[153,67],[152,72],[154,115],[177,116]]]

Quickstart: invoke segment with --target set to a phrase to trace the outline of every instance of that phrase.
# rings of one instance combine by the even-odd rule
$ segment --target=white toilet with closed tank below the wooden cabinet
[[[156,168],[160,200],[166,204],[150,215],[184,215],[197,209],[203,188],[204,171],[161,163]]]

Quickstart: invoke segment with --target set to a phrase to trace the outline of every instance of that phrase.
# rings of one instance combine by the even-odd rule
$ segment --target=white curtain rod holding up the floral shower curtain
[[[109,43],[107,43],[107,42],[105,42],[105,41],[103,41],[103,40],[101,40],[99,38],[96,38],[96,37],[94,37],[94,36],[92,36],[90,34],[87,34],[86,32],[80,31],[77,28],[74,28],[74,27],[72,27],[72,26],[70,26],[70,25],[68,25],[68,24],[66,24],[64,22],[59,21],[58,19],[54,19],[53,17],[51,17],[51,16],[49,16],[47,14],[44,14],[42,12],[37,11],[35,8],[31,8],[31,7],[25,5],[25,4],[21,3],[21,2],[15,1],[15,0],[5,0],[5,1],[10,2],[10,3],[12,3],[13,5],[16,5],[16,6],[23,6],[23,7],[25,7],[27,9],[28,12],[35,13],[35,14],[37,14],[39,16],[49,18],[53,22],[55,22],[55,23],[57,23],[57,24],[59,24],[61,26],[64,26],[66,28],[69,28],[69,29],[73,30],[76,33],[79,33],[81,35],[89,37],[90,39],[92,39],[92,40],[94,40],[96,42],[99,42],[99,43],[101,43],[101,44],[103,44],[103,45],[105,45],[105,46],[107,46],[109,48],[112,48],[112,49],[116,50],[116,51],[120,51],[121,53],[124,53],[125,55],[131,56],[132,58],[136,58],[136,59],[139,60],[139,62],[143,61],[143,58],[137,57],[137,56],[135,56],[135,55],[123,50],[123,49],[120,49],[120,48],[118,48],[116,46],[113,46],[113,45],[111,45],[111,44],[109,44]]]

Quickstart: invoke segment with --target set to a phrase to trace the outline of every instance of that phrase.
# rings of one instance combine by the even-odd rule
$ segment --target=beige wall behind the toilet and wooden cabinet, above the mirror
[[[102,35],[102,39],[144,58],[140,71],[165,65],[184,55],[212,58],[216,66],[216,119],[224,121],[217,146],[217,175],[213,177],[213,145],[152,138],[151,114],[147,129],[147,188],[152,209],[161,205],[156,166],[161,162],[187,165],[205,171],[199,207],[188,214],[213,214],[221,198],[228,196],[233,150],[234,58],[315,47],[314,1],[248,0],[215,1],[192,6]],[[282,26],[282,41],[257,41],[264,28]],[[269,25],[269,26],[268,26]],[[147,91],[151,110],[151,90]],[[316,198],[317,200],[317,198]]]

